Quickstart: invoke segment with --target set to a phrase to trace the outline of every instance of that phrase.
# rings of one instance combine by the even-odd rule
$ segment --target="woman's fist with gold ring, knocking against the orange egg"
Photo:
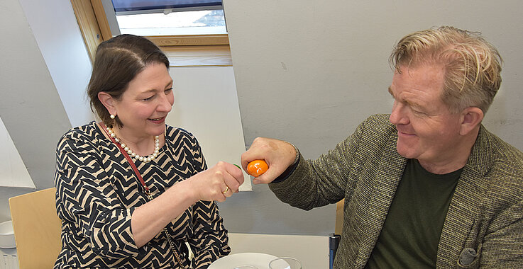
[[[224,202],[233,193],[238,193],[238,188],[243,183],[243,172],[233,164],[219,161],[215,166],[197,173],[185,182],[195,202]]]

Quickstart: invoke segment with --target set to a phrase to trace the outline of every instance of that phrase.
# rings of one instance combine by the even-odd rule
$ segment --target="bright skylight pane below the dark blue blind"
[[[224,10],[116,15],[121,33],[207,35],[227,33]]]

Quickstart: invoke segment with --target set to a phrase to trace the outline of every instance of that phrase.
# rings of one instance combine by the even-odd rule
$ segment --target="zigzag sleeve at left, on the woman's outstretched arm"
[[[91,139],[79,131],[68,132],[56,154],[57,213],[75,236],[65,244],[88,244],[77,248],[92,248],[108,258],[138,256],[131,233],[133,210],[119,202]]]

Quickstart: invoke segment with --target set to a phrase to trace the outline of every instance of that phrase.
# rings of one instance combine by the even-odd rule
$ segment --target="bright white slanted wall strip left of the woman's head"
[[[94,120],[87,98],[91,61],[64,0],[19,0],[72,126]]]

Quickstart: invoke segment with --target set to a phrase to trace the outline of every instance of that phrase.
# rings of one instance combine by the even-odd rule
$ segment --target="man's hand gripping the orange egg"
[[[241,166],[247,171],[247,165],[254,160],[265,160],[269,169],[263,175],[254,178],[253,183],[271,183],[294,163],[296,151],[292,144],[278,139],[258,137],[251,147],[241,154]]]

